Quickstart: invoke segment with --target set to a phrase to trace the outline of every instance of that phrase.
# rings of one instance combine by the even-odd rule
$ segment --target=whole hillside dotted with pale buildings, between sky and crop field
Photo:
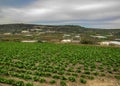
[[[83,44],[120,40],[120,29],[93,29],[76,25],[0,25],[0,41],[40,40],[61,42],[64,39]]]

